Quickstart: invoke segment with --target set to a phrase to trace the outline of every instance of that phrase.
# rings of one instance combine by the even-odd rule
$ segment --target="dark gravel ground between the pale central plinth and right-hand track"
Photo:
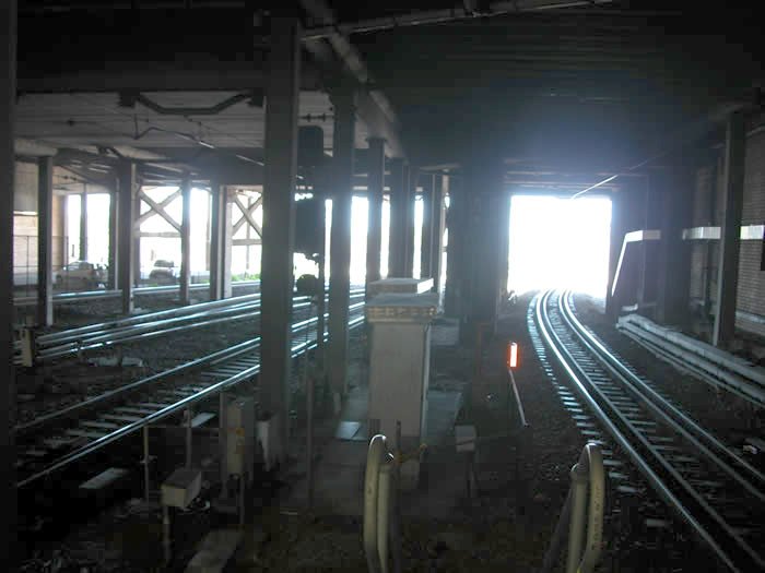
[[[480,493],[460,499],[449,520],[404,517],[403,571],[534,571],[541,565],[568,489],[569,468],[585,441],[537,361],[526,329],[529,298],[506,309],[460,414],[462,422],[476,425],[480,435],[493,438],[480,446],[476,456]],[[519,442],[504,435],[508,430],[513,433],[503,368],[509,338],[521,347],[523,365],[516,381],[533,429],[533,446],[521,452],[518,481],[514,470]],[[473,351],[435,347],[433,365],[434,379],[470,380]],[[240,561],[233,571],[366,570],[358,518],[273,512],[259,523],[263,529],[259,561]]]

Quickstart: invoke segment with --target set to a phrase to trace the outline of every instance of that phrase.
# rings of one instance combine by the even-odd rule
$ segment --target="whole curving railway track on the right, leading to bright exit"
[[[534,305],[570,386],[658,497],[728,570],[765,569],[765,476],[589,332],[570,293],[548,291]]]

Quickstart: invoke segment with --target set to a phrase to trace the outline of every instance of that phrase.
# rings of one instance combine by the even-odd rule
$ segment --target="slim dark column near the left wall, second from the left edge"
[[[37,162],[37,324],[54,323],[54,158]]]

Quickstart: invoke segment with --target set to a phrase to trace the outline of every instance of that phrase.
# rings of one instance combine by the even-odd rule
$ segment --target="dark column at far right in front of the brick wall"
[[[713,330],[713,344],[720,347],[733,342],[735,336],[735,298],[739,284],[741,213],[744,193],[744,115],[742,111],[735,111],[728,117],[726,128],[723,214]]]

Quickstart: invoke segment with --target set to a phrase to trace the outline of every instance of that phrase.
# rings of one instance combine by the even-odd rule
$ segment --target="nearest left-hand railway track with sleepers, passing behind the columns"
[[[364,302],[349,309],[349,326],[363,324]],[[317,322],[311,317],[293,323],[293,357],[316,347]],[[251,381],[260,372],[259,351],[260,337],[256,337],[17,426],[16,487],[28,487],[108,444]]]

